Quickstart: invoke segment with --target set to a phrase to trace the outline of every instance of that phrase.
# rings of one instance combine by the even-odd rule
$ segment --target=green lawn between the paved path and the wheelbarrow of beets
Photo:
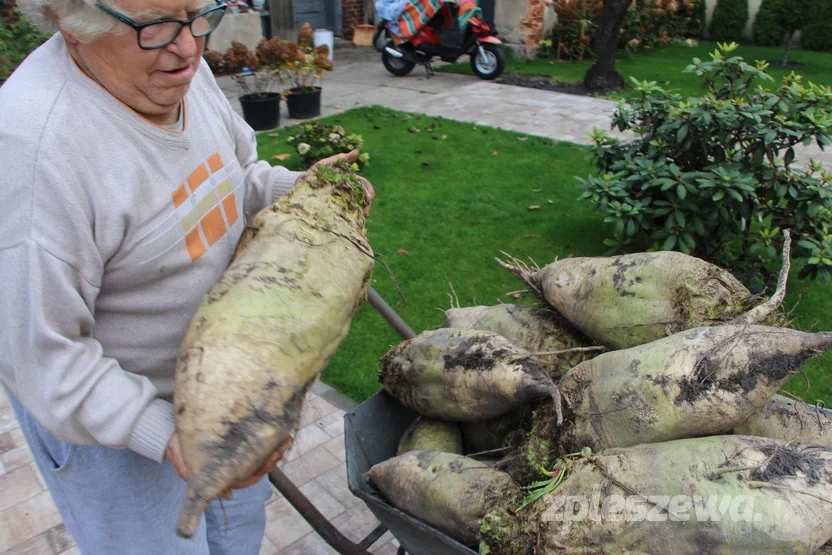
[[[362,173],[376,190],[369,237],[405,300],[380,263],[373,287],[417,333],[442,323],[451,285],[462,306],[514,302],[506,293],[523,284],[494,262],[501,250],[541,266],[556,257],[606,250],[607,225],[589,202],[577,200],[576,176],[593,171],[584,147],[383,108],[323,121],[364,136],[364,151],[372,158]],[[296,155],[273,159],[293,152],[286,142],[290,134],[261,134],[261,157],[300,169]],[[540,208],[530,211],[530,205]],[[830,291],[792,282],[789,303],[803,295],[801,327],[832,329]],[[379,358],[400,341],[365,303],[323,380],[358,401],[367,398],[379,389]],[[832,380],[821,377],[832,365],[815,361],[807,369],[807,398],[832,400]],[[802,394],[802,377],[792,383],[791,390]]]

